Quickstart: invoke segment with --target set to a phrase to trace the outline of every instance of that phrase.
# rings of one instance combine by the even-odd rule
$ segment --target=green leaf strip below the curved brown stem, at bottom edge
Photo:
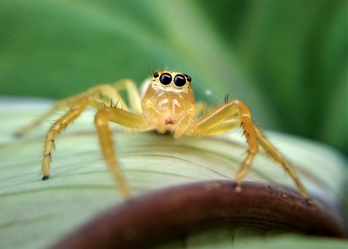
[[[300,234],[267,233],[262,229],[239,227],[199,232],[189,237],[185,244],[174,241],[156,249],[346,249],[348,242],[341,239],[306,236]]]

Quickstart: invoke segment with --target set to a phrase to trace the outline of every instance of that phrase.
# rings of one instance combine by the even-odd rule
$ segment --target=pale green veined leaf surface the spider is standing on
[[[13,133],[46,111],[50,103],[23,98],[0,101],[0,248],[46,247],[123,201],[102,159],[93,111],[86,111],[55,139],[51,176],[41,181],[47,128],[40,127],[23,138],[15,138]],[[246,151],[241,130],[174,140],[169,135],[125,133],[116,125],[113,128],[118,159],[135,195],[183,182],[233,178]],[[268,137],[293,163],[310,193],[339,202],[345,180],[344,158],[313,141],[277,133],[268,133]],[[255,158],[247,180],[294,186],[283,169],[262,153]],[[231,248],[231,237],[234,245],[242,245],[246,238],[256,236],[264,241],[267,237],[257,229],[255,233],[246,231],[227,229],[206,240],[212,243],[224,237],[218,240],[226,243],[217,248]],[[188,248],[209,248],[201,242],[205,235],[195,236],[189,238]]]

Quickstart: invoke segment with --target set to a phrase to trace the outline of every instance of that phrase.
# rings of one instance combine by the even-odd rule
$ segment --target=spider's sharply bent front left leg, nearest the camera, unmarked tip
[[[106,106],[95,114],[94,124],[106,164],[109,166],[113,178],[119,184],[122,194],[125,197],[130,197],[130,188],[115,157],[109,122],[118,123],[136,131],[148,130],[149,126],[144,116],[118,108]]]

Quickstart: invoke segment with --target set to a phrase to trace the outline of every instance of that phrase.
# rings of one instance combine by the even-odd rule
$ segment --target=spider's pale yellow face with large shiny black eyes
[[[151,86],[154,90],[172,93],[187,93],[191,91],[191,77],[177,72],[157,71],[153,74]]]

